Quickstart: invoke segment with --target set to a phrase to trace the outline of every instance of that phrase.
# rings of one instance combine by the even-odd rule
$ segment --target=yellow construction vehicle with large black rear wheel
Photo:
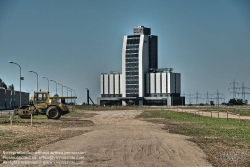
[[[30,118],[31,115],[44,114],[49,119],[59,119],[62,115],[69,112],[69,108],[66,104],[58,102],[57,99],[75,99],[71,96],[53,96],[50,97],[49,92],[38,91],[34,92],[34,96],[31,98],[30,105],[21,106],[14,110],[14,115],[18,115],[20,118]]]

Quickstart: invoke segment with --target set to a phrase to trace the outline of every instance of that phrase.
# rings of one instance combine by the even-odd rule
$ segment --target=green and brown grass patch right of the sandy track
[[[193,114],[178,113],[170,110],[145,110],[141,118],[164,118],[154,123],[164,123],[170,133],[191,137],[203,149],[208,161],[214,166],[235,166],[236,160],[221,159],[222,153],[245,153],[250,150],[250,124],[235,119],[217,119],[195,117]],[[149,119],[150,120],[150,119]],[[248,166],[249,155],[244,160],[238,159],[238,165]]]

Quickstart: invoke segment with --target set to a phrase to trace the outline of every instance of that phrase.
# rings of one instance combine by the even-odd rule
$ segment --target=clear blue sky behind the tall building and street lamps
[[[74,89],[78,103],[85,88],[96,101],[100,73],[121,71],[123,36],[139,25],[158,36],[159,67],[182,74],[185,94],[218,89],[229,99],[234,79],[250,87],[249,0],[0,0],[0,78],[19,90],[14,61],[23,91],[36,90],[33,70],[39,89],[45,76]]]

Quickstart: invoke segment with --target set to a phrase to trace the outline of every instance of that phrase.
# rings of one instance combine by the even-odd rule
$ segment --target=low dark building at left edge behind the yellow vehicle
[[[29,104],[29,93],[21,92],[21,105]],[[0,88],[0,109],[13,109],[20,106],[20,91]]]

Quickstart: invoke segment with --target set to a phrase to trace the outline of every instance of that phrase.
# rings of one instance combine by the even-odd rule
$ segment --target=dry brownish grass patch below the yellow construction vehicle
[[[46,115],[36,115],[33,117],[33,126],[30,124],[30,118],[22,119],[18,116],[14,117],[12,126],[9,122],[1,123],[0,164],[3,162],[3,151],[35,152],[44,145],[86,133],[84,130],[72,130],[75,127],[94,125],[92,121],[84,118],[84,112],[73,111],[59,120],[47,119]]]

